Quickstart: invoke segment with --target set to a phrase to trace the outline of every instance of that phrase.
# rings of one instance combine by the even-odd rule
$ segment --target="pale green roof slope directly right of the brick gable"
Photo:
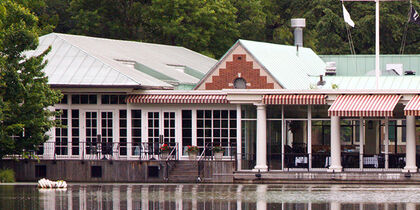
[[[325,63],[310,48],[239,40],[239,43],[286,89],[309,89],[309,75],[323,75]]]

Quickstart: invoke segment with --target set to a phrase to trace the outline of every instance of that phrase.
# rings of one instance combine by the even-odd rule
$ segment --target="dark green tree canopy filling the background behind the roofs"
[[[19,1],[56,32],[178,45],[215,58],[238,39],[293,44],[290,19],[303,17],[305,46],[319,54],[350,54],[340,0]],[[373,53],[375,3],[344,4],[356,23],[350,29],[356,53]],[[406,25],[408,10],[408,1],[381,3],[381,53],[399,53],[406,26],[405,53],[418,53],[420,26]]]

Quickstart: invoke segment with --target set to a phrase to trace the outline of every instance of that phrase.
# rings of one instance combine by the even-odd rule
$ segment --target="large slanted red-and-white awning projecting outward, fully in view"
[[[341,95],[328,109],[329,116],[392,117],[400,95]]]

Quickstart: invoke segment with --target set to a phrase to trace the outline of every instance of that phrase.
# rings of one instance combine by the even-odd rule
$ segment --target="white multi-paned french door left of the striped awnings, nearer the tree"
[[[85,151],[88,155],[112,155],[114,136],[113,111],[85,112]]]

